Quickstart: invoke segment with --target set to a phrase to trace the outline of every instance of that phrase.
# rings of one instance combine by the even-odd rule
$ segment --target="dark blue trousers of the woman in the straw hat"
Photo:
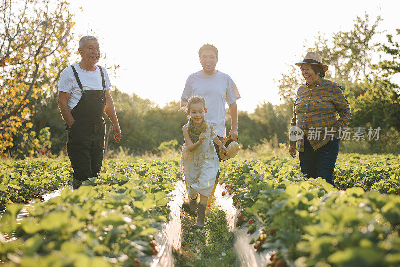
[[[333,138],[315,151],[307,138],[304,141],[304,152],[298,153],[301,172],[308,178],[321,177],[334,186],[333,171],[339,153],[339,139]]]

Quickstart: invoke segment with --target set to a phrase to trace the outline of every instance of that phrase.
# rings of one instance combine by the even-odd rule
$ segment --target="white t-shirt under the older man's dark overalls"
[[[80,68],[78,63],[72,64],[76,72],[78,73],[79,80],[82,83],[83,90],[102,90],[103,83],[101,80],[100,68],[96,65],[96,70],[87,71]],[[103,67],[104,80],[105,80],[105,90],[111,87],[111,82],[109,81],[107,70]],[[71,93],[68,100],[68,105],[70,109],[73,109],[79,102],[80,97],[82,97],[82,90],[79,88],[78,82],[73,75],[72,67],[66,67],[59,77],[58,80],[58,90],[61,92]]]

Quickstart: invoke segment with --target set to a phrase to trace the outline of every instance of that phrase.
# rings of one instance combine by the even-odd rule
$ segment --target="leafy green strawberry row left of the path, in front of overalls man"
[[[167,221],[168,196],[177,161],[106,161],[99,178],[61,196],[3,213],[0,231],[13,240],[0,242],[0,260],[10,265],[125,265],[151,262],[158,253],[153,234]]]

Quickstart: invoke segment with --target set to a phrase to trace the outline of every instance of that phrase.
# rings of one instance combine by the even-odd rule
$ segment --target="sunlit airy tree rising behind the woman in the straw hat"
[[[378,16],[371,24],[368,14],[365,13],[364,18],[357,16],[352,30],[333,33],[330,39],[319,33],[314,46],[307,49],[319,53],[323,63],[329,65],[326,78],[341,84],[343,90],[351,87],[355,97],[364,94],[367,88],[351,85],[371,81],[373,68],[370,62],[377,47],[371,40],[378,33],[377,26],[381,20]],[[294,101],[297,88],[303,83],[299,67],[290,66],[288,73],[282,74],[278,82],[281,99]]]

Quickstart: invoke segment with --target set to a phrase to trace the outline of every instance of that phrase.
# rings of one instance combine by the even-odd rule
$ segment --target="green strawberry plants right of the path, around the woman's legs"
[[[222,194],[235,194],[237,227],[260,230],[251,241],[254,249],[277,251],[271,265],[398,266],[398,157],[386,165],[357,157],[338,160],[336,181],[345,191],[320,178],[305,179],[293,161],[271,157],[225,163]]]

